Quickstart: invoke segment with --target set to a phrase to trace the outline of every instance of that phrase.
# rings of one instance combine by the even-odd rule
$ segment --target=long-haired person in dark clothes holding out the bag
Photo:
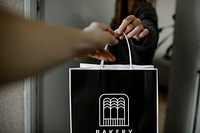
[[[109,47],[114,64],[129,63],[123,32],[129,38],[134,64],[151,64],[158,42],[158,20],[154,0],[116,0],[111,28],[116,29],[119,44]]]

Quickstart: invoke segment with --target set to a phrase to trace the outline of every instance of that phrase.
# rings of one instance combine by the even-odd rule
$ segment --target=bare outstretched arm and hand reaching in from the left
[[[73,57],[114,61],[103,48],[118,43],[107,25],[84,30],[25,20],[0,7],[0,85],[37,74]]]

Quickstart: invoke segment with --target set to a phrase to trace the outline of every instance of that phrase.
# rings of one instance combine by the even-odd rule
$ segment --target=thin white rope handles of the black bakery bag
[[[128,53],[129,53],[129,63],[130,63],[130,69],[133,69],[133,63],[132,63],[132,56],[131,56],[131,48],[130,48],[130,44],[129,44],[129,41],[128,41],[128,37],[126,36],[125,33],[123,33],[125,39],[126,39],[126,43],[128,45]],[[105,50],[108,49],[108,44],[106,44]],[[101,60],[101,63],[100,63],[100,69],[102,69],[104,67],[104,60]]]

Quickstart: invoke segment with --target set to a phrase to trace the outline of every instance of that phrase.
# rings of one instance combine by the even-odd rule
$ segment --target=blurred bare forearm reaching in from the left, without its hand
[[[7,13],[1,13],[0,20],[0,81],[38,73],[92,47],[89,34],[80,30],[25,21]]]

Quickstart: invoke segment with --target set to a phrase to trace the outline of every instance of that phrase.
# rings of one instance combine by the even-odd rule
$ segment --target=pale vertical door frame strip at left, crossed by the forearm
[[[37,20],[40,0],[24,0],[24,18]],[[24,133],[37,132],[38,76],[24,80]]]

